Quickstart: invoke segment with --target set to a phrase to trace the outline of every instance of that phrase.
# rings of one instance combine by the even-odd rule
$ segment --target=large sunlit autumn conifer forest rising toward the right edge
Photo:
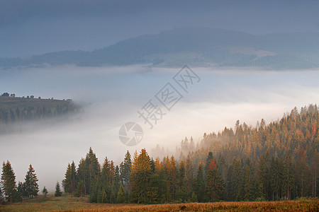
[[[101,203],[255,201],[318,196],[318,107],[294,108],[278,122],[204,134],[181,143],[179,158],[145,149],[120,165],[86,158],[67,166],[65,192]],[[158,147],[159,148],[159,147]]]

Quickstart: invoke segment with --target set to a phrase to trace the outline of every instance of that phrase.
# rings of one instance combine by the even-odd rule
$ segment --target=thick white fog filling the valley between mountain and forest
[[[10,160],[17,180],[23,181],[33,164],[42,188],[53,189],[61,181],[67,163],[78,165],[91,146],[100,163],[107,156],[118,165],[125,151],[147,148],[157,143],[175,150],[181,139],[233,127],[237,119],[254,126],[257,120],[276,121],[290,112],[319,100],[319,71],[244,71],[194,68],[201,81],[182,93],[184,98],[153,129],[143,124],[137,111],[179,69],[141,66],[11,69],[1,72],[0,90],[18,96],[72,98],[91,102],[84,113],[64,122],[35,122],[17,134],[0,136],[0,161]],[[177,88],[178,89],[178,88]],[[316,102],[317,101],[317,102]],[[138,146],[124,146],[118,131],[125,122],[138,122],[144,137]],[[178,155],[177,155],[178,158]]]

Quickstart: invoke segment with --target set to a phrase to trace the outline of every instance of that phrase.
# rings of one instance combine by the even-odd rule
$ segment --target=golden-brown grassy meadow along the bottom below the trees
[[[91,204],[88,196],[39,196],[16,204],[0,205],[0,211],[319,211],[318,199],[298,201],[216,202],[189,204]]]

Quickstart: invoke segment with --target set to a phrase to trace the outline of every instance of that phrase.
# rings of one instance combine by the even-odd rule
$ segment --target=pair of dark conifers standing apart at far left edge
[[[6,200],[12,203],[27,198],[32,199],[34,196],[38,196],[38,192],[38,177],[32,165],[29,166],[25,182],[16,184],[16,175],[13,172],[11,163],[9,161],[3,163],[0,192],[2,201]]]

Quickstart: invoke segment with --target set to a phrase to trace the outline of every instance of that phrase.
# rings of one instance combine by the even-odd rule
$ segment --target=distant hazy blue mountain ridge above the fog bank
[[[174,28],[123,40],[93,52],[63,51],[27,59],[1,58],[1,67],[152,64],[153,66],[319,67],[319,33],[251,35],[215,28]]]

